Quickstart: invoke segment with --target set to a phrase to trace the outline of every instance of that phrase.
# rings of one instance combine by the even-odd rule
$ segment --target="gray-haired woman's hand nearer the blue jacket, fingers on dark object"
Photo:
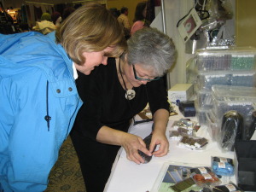
[[[130,133],[124,134],[121,146],[125,148],[127,159],[132,160],[137,164],[144,163],[143,158],[138,154],[137,150],[140,150],[149,156],[152,155],[146,148],[146,144],[143,142],[143,139]]]

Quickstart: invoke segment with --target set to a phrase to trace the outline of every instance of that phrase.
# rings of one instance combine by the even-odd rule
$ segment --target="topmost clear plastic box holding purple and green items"
[[[252,71],[256,69],[256,49],[198,49],[195,53],[199,71]]]

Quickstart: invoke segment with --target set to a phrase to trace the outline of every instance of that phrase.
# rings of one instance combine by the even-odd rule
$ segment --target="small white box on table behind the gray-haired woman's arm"
[[[194,89],[193,84],[175,84],[170,90],[168,90],[168,99],[170,102],[189,101],[189,98],[193,96]]]

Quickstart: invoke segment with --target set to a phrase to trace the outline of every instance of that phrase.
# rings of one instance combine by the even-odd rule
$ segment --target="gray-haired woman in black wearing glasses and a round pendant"
[[[87,192],[101,192],[115,156],[125,148],[127,159],[146,163],[140,155],[161,157],[169,143],[166,125],[169,102],[162,76],[172,66],[175,47],[172,39],[154,28],[144,28],[128,40],[128,49],[118,58],[108,58],[90,76],[79,73],[80,108],[71,137],[79,156]],[[149,103],[154,131],[149,148],[143,138],[127,133],[131,119]],[[154,151],[156,145],[160,148]],[[138,151],[140,150],[140,152]]]

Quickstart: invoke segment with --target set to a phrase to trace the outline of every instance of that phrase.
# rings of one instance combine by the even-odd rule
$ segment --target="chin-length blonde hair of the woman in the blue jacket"
[[[127,46],[118,20],[108,9],[97,3],[75,10],[57,28],[55,38],[78,65],[86,60],[84,52],[98,52],[113,47],[114,50],[108,56],[116,57]]]

